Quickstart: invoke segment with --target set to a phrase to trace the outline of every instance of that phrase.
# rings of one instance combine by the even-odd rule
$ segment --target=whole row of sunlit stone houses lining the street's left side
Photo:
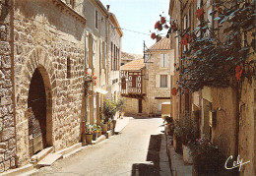
[[[115,41],[118,65],[122,32],[100,1],[90,3],[93,9],[86,0],[1,1],[0,172],[28,164],[43,148],[78,144],[87,114],[96,123],[96,97],[116,79],[108,42]],[[99,77],[92,101],[86,71]]]

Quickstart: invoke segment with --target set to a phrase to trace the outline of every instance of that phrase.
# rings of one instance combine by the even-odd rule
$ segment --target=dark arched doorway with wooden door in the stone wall
[[[29,148],[30,156],[52,146],[51,93],[45,69],[37,66],[29,89]]]

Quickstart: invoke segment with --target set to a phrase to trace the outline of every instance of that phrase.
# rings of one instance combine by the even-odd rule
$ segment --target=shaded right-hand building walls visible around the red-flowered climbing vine
[[[251,2],[251,1],[248,1]],[[196,10],[204,9],[204,18],[215,25],[213,17],[210,15],[213,10],[212,1],[188,0],[169,1],[169,15],[171,20],[176,20],[181,29],[196,29],[199,20],[196,17]],[[219,37],[224,37],[224,31],[218,32]],[[180,44],[181,37],[175,37],[172,33],[171,49],[174,49],[175,70],[172,77],[172,88],[177,88],[176,82],[182,74],[182,51],[185,47]],[[252,38],[247,38],[248,40]],[[252,60],[253,56],[248,58]],[[254,56],[255,59],[255,56]],[[182,118],[185,114],[199,112],[200,137],[210,139],[217,145],[224,156],[240,155],[250,163],[243,165],[239,175],[255,175],[256,173],[256,143],[255,143],[255,79],[252,82],[245,81],[241,87],[240,101],[237,99],[235,88],[213,88],[204,87],[193,93],[175,95],[171,97],[172,114],[174,119]],[[179,92],[178,92],[179,93]],[[177,94],[178,94],[177,93]],[[237,104],[239,104],[237,106]],[[238,107],[238,108],[237,108]],[[213,121],[214,119],[214,121]],[[213,124],[214,122],[214,124]]]

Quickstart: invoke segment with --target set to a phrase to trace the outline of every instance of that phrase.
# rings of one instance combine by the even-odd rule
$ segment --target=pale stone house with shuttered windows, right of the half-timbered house
[[[170,78],[173,70],[173,52],[170,39],[161,38],[145,53],[146,58],[146,101],[150,116],[161,114],[161,103],[169,102]]]

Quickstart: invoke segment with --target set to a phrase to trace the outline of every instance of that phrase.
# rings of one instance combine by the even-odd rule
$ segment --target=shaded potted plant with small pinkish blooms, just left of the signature
[[[194,175],[219,175],[224,165],[219,148],[203,138],[190,144]]]

